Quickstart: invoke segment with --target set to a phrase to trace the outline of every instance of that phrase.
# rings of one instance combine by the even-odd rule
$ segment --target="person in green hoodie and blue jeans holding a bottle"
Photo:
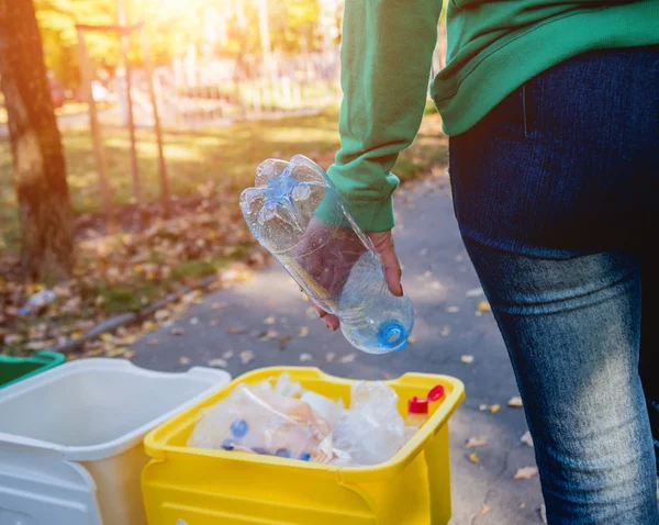
[[[391,170],[421,124],[440,11],[345,5],[328,177],[398,295]],[[547,520],[658,525],[659,0],[449,0],[447,35],[431,93],[455,214],[509,349]]]

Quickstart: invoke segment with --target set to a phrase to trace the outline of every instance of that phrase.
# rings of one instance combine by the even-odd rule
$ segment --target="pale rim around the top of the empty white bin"
[[[190,398],[185,403],[181,403],[179,406],[167,411],[158,417],[154,417],[153,420],[143,423],[142,425],[115,439],[109,439],[96,445],[66,446],[44,439],[34,439],[26,436],[21,436],[19,434],[0,432],[0,445],[8,444],[32,448],[35,451],[40,450],[41,453],[55,454],[66,461],[98,461],[108,459],[130,450],[135,445],[141,444],[145,434],[150,429],[174,417],[179,412],[196,405],[203,399],[223,389],[225,384],[231,381],[231,375],[228,372],[206,367],[192,367],[183,372],[161,372],[138,367],[126,359],[80,359],[76,361],[69,361],[59,367],[46,370],[34,377],[26,378],[20,382],[8,386],[0,391],[0,402],[10,402],[13,398],[34,390],[35,388],[57,381],[63,377],[77,373],[80,370],[127,371],[132,373],[138,373],[143,377],[147,376],[170,379],[181,377],[204,382],[208,384],[208,387],[202,392],[198,393],[193,398]]]

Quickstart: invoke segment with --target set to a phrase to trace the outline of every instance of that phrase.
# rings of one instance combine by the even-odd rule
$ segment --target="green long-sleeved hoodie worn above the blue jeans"
[[[393,226],[391,172],[423,116],[442,0],[346,0],[340,149],[328,176],[366,231]],[[469,130],[526,80],[593,49],[659,44],[659,0],[448,0],[444,131]]]

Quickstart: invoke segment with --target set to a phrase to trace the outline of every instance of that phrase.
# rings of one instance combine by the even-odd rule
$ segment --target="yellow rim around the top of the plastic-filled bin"
[[[338,378],[323,372],[319,368],[313,367],[268,367],[253,370],[235,378],[231,383],[226,384],[221,390],[208,396],[203,404],[213,405],[217,401],[224,399],[228,392],[241,383],[256,383],[280,373],[288,372],[294,381],[304,380],[321,380],[331,381],[334,383],[351,386],[357,380]],[[176,460],[185,457],[202,457],[209,460],[237,461],[259,463],[270,468],[292,468],[304,470],[306,473],[312,473],[320,477],[333,477],[339,483],[364,483],[369,481],[381,481],[395,476],[403,470],[416,456],[423,450],[424,446],[448,423],[449,417],[457,410],[459,404],[465,399],[465,384],[457,378],[444,375],[431,375],[422,372],[406,372],[398,379],[383,381],[389,386],[403,386],[417,381],[428,381],[435,384],[444,384],[446,396],[428,422],[410,439],[391,459],[388,461],[368,466],[368,467],[337,467],[333,465],[321,465],[304,461],[291,461],[290,459],[278,458],[273,456],[260,456],[253,454],[244,454],[237,451],[226,451],[217,449],[192,448],[187,446],[169,445],[168,442],[172,435],[183,426],[188,426],[191,420],[198,421],[200,417],[201,406],[196,403],[193,406],[180,412],[171,420],[163,423],[158,427],[150,431],[144,438],[144,448],[146,454],[154,461],[165,461],[168,459]],[[369,381],[372,382],[372,381]]]

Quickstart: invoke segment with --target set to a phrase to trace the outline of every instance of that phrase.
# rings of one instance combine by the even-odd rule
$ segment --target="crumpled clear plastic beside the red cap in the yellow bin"
[[[399,398],[383,382],[353,386],[350,409],[334,426],[334,465],[368,466],[391,459],[407,442]]]

